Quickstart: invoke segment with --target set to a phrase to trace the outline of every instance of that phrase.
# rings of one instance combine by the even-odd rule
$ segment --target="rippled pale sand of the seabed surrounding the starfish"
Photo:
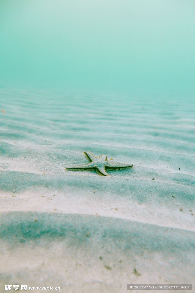
[[[1,88],[0,107],[1,291],[193,284],[194,102]],[[83,151],[134,166],[65,170]]]

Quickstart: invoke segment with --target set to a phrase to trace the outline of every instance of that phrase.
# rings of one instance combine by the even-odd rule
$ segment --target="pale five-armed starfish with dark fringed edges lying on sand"
[[[89,160],[88,164],[67,167],[67,170],[78,170],[78,171],[87,171],[87,170],[96,170],[97,173],[101,176],[110,176],[106,170],[122,170],[132,167],[133,165],[127,165],[123,163],[114,163],[112,160],[108,160],[107,156],[101,155],[100,157],[95,157],[89,151],[84,151],[83,154],[87,156]]]

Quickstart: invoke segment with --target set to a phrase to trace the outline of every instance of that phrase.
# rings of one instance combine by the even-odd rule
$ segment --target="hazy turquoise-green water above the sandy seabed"
[[[0,85],[193,98],[194,0],[1,0]]]

